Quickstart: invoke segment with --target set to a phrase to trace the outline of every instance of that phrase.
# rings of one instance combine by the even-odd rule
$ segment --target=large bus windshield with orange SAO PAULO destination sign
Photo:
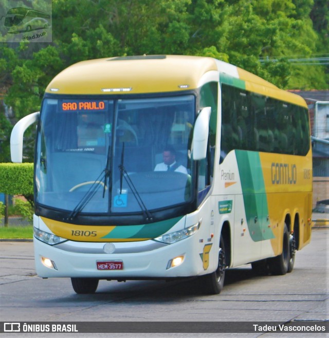
[[[193,95],[46,98],[36,146],[36,203],[75,215],[190,202],[194,118]]]

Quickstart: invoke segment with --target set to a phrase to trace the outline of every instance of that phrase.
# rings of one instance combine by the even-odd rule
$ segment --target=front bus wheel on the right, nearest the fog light
[[[208,294],[218,294],[224,287],[225,279],[225,244],[221,235],[220,250],[218,252],[218,267],[213,273],[202,276],[203,285],[202,288]]]

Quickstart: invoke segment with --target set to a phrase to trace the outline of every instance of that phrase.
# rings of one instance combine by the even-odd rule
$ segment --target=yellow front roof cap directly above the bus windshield
[[[64,69],[46,91],[58,88],[58,93],[65,94],[104,94],[120,93],[104,91],[106,88],[132,88],[131,93],[186,90],[179,85],[194,89],[210,70],[217,70],[211,58],[148,55],[89,60]]]

